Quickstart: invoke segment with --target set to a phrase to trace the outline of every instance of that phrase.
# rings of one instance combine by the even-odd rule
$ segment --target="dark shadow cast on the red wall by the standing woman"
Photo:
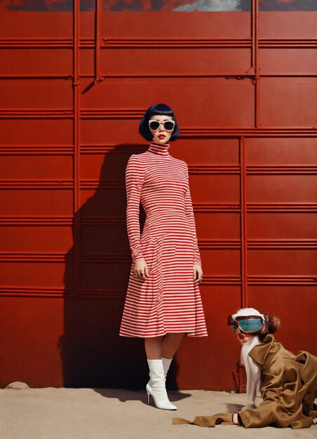
[[[64,334],[60,353],[64,386],[144,389],[148,367],[142,339],[119,337],[130,274],[126,233],[126,164],[143,145],[120,144],[102,164],[98,187],[76,212],[80,233],[79,288],[74,282],[74,247],[66,255]],[[89,190],[89,184],[81,197]],[[141,227],[144,223],[141,212]],[[119,219],[119,221],[118,221]],[[168,386],[176,389],[177,364]]]

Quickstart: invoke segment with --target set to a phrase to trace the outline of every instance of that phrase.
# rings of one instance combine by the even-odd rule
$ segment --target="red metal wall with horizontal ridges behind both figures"
[[[0,385],[146,382],[142,341],[118,332],[124,170],[155,102],[181,127],[210,332],[184,342],[170,385],[233,389],[240,306],[316,354],[317,13],[97,6],[1,11]]]

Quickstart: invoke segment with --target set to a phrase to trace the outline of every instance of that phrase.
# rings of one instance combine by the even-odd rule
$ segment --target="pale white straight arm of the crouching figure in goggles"
[[[257,344],[259,344],[259,339],[258,337],[254,337],[250,342],[245,343],[241,349],[241,363],[245,366],[247,375],[247,408],[255,407],[255,396],[257,396],[257,388],[261,379],[259,365],[249,356],[249,352]]]

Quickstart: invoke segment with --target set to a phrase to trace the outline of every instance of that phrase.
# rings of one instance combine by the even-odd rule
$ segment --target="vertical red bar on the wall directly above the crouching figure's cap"
[[[245,184],[245,144],[244,137],[239,137],[240,155],[240,236],[241,236],[241,307],[244,308],[248,302],[248,261],[247,261],[247,233],[246,233],[246,184]]]

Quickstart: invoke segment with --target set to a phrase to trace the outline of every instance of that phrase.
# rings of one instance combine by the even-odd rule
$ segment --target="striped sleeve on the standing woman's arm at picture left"
[[[144,259],[140,236],[140,198],[143,182],[144,167],[137,156],[130,156],[126,167],[126,217],[133,264]]]

